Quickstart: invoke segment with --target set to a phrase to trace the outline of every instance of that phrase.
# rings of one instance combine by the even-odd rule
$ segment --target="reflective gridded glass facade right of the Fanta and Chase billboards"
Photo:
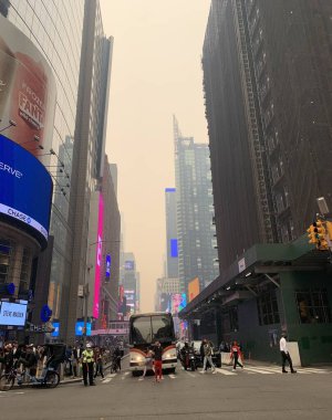
[[[72,234],[68,221],[84,1],[11,0],[6,14],[43,53],[56,81],[53,153],[49,168],[54,183],[50,228],[50,234],[54,235],[54,249],[49,305],[58,318],[61,297],[69,295],[70,287],[68,273],[71,267]],[[23,283],[22,277],[22,287]]]

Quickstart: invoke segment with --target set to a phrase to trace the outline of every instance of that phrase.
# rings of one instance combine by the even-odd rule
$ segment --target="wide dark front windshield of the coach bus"
[[[175,339],[170,314],[137,316],[132,321],[131,342],[135,345],[151,345],[156,340],[169,343]]]

